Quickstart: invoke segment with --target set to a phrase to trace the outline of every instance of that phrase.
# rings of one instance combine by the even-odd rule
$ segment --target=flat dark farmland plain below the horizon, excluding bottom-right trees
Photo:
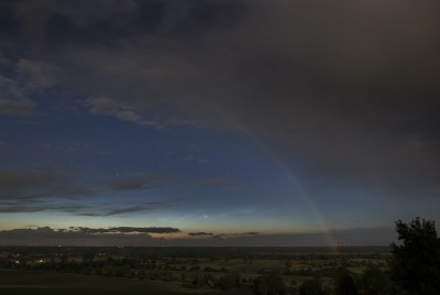
[[[386,271],[388,248],[0,248],[1,294],[254,294],[277,274],[286,292],[336,270]]]

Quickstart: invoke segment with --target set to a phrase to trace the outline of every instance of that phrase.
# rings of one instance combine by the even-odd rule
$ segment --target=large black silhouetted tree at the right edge
[[[399,244],[392,243],[392,278],[414,295],[433,295],[440,289],[440,239],[436,223],[419,217],[396,221]]]

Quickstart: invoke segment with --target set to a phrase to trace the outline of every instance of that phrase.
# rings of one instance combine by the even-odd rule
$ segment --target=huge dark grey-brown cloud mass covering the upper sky
[[[295,163],[317,196],[338,187],[438,195],[438,2],[123,2],[120,12],[94,2],[90,18],[76,4],[9,2],[40,57],[4,45],[24,73],[4,77],[26,79],[32,91],[76,89],[91,113],[145,128],[190,121],[245,131]],[[3,112],[18,111],[2,99]]]

